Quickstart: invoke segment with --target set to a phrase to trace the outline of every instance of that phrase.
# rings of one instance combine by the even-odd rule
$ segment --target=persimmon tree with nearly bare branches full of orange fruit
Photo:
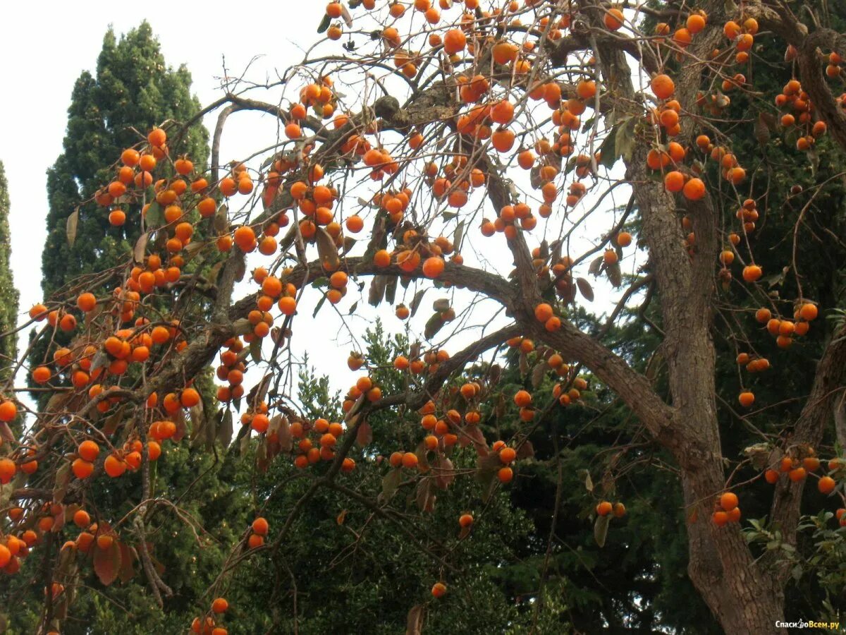
[[[303,60],[275,82],[233,81],[203,111],[218,113],[207,169],[180,145],[199,118],[162,122],[114,157],[115,178],[94,198],[118,220],[140,202],[143,233],[124,266],[97,279],[107,295],[80,279],[33,307],[32,319],[47,321],[40,337],[62,330],[73,339],[28,369],[52,397],[27,413],[22,435],[5,431],[0,460],[0,480],[11,483],[0,556],[15,572],[30,549],[43,554],[41,630],[58,631],[72,611],[85,567],[105,584],[137,569],[157,601],[170,593],[150,537],[156,514],[179,513],[179,495],[151,478],[168,444],[188,436],[230,447],[237,417],[233,447],[254,452],[256,470],[292,461],[310,479],[281,527],[261,515],[273,493],[257,502],[198,607],[195,631],[222,633],[227,602],[214,598],[253,557],[270,558],[281,593],[286,539],[323,489],[413,532],[393,494],[409,492],[432,511],[456,479],[475,477],[480,509],[455,527],[457,539],[472,540],[485,501],[530,461],[530,434],[555,409],[586,407],[590,379],[673,457],[689,577],[722,627],[780,632],[791,571],[748,544],[740,510],[750,481],[772,483],[766,527],[789,550],[807,487],[843,500],[842,461],[821,445],[843,399],[843,322],[825,333],[809,384],[785,395],[803,400],[798,417],[768,426],[780,404],[755,400],[767,370],[790,363],[794,347],[827,328],[821,312],[836,308],[803,293],[797,258],[816,197],[834,179],[775,199],[783,188],[768,184],[759,155],[733,148],[732,134],[754,126],[763,152],[788,143],[811,168],[818,146],[846,149],[837,97],[846,52],[826,19],[811,3],[722,0],[636,9],[589,0],[329,3],[319,29],[327,38]],[[785,50],[792,79],[777,94],[755,89],[762,41]],[[744,114],[730,116],[738,101]],[[224,165],[222,135],[242,111],[277,118],[280,134]],[[766,218],[792,227],[774,241],[781,271],[764,270],[755,252]],[[219,265],[189,268],[221,253]],[[578,319],[594,285],[615,299],[598,332]],[[340,404],[343,421],[332,422],[298,401],[291,358],[314,337],[303,309],[315,297],[313,313],[335,306],[354,338],[346,314],[359,301],[347,295],[397,304],[419,340],[394,360],[405,379],[391,389],[378,365],[350,354],[360,377]],[[201,299],[213,304],[208,320],[188,312]],[[601,341],[633,303],[657,303],[650,328],[662,343],[644,373]],[[762,329],[768,348],[753,345]],[[736,352],[736,394],[716,388],[715,338]],[[509,348],[525,376],[519,389],[503,384],[497,365]],[[192,386],[212,362],[217,404]],[[533,389],[550,378],[553,398],[541,402]],[[26,410],[4,395],[0,418]],[[375,428],[381,411],[415,412],[420,427]],[[761,439],[739,460],[723,454],[720,411]],[[502,417],[519,422],[514,433],[486,438],[483,420]],[[380,473],[381,491],[350,488],[354,470]],[[599,494],[613,492],[613,472],[585,492],[600,544],[625,514],[624,501]],[[137,482],[123,516],[86,508],[91,480],[108,478]],[[81,531],[65,540],[72,523]],[[426,605],[437,610],[458,563],[434,541],[417,548],[441,572]],[[414,632],[424,606],[409,609]]]

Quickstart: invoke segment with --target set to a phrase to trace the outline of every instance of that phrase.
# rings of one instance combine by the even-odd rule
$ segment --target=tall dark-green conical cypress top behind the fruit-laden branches
[[[200,106],[190,93],[191,75],[184,65],[167,66],[151,26],[142,22],[120,39],[113,30],[103,38],[96,75],[85,71],[76,80],[68,108],[63,152],[47,170],[47,242],[42,256],[45,297],[80,274],[102,272],[120,262],[140,233],[139,206],[122,206],[126,224],[113,227],[108,210],[91,197],[113,179],[115,157],[142,141],[155,125],[184,122]],[[197,163],[208,156],[208,133],[192,126],[172,157],[187,153]],[[79,207],[73,246],[68,217]]]

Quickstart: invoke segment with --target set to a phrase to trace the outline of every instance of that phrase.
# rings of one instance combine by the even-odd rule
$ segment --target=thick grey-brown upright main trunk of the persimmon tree
[[[634,195],[661,293],[673,430],[669,449],[681,471],[689,518],[689,576],[728,633],[777,633],[783,592],[755,563],[739,525],[717,527],[714,502],[725,489],[717,421],[715,351],[711,340],[713,254],[717,236],[707,199],[688,204],[697,251],[689,256],[672,195],[643,173],[645,157],[632,163]]]

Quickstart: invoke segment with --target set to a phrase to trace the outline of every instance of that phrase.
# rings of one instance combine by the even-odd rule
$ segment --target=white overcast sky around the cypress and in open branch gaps
[[[267,75],[272,77],[274,69],[281,71],[290,63],[299,62],[301,47],[309,47],[318,37],[316,25],[324,10],[323,2],[288,0],[255,10],[228,3],[206,3],[200,9],[186,11],[173,3],[162,2],[122,5],[98,0],[47,3],[39,8],[27,3],[4,3],[3,19],[8,28],[0,38],[0,58],[6,60],[3,76],[6,89],[0,99],[0,160],[6,168],[11,197],[12,266],[15,286],[20,290],[21,311],[26,312],[32,304],[41,301],[41,249],[47,215],[45,172],[62,152],[74,81],[84,69],[95,71],[102,38],[109,25],[119,36],[137,26],[141,19],[150,22],[168,65],[187,64],[193,77],[191,90],[205,105],[221,96],[215,78],[222,75],[224,56],[228,69],[236,75],[250,59],[262,56],[253,63],[250,78],[262,81]],[[338,47],[336,53],[342,52],[340,43],[334,44]],[[205,122],[210,130],[213,117]],[[268,116],[234,115],[223,135],[222,160],[248,156],[272,144],[276,135],[276,121]],[[618,194],[615,203],[624,204],[627,197],[627,192]],[[610,227],[613,220],[608,218],[608,221]],[[477,226],[470,230],[478,232]],[[598,233],[601,232],[593,229],[594,235]],[[487,240],[493,240],[497,249],[506,251],[501,235]],[[486,251],[486,256],[492,254]],[[505,265],[508,263],[510,257]],[[624,270],[631,271],[633,265],[634,260],[630,260]],[[602,311],[618,294],[609,295],[602,284],[598,286],[594,308]],[[435,297],[433,292],[426,296],[426,309]],[[342,307],[349,307],[352,300],[348,299]],[[359,306],[365,303],[362,301]],[[337,388],[346,388],[354,381],[354,374],[347,371],[345,364],[347,352],[353,346],[344,334],[338,341],[334,340],[340,320],[328,308],[324,306],[315,323],[311,323],[311,311],[306,309],[308,322],[300,320],[298,329],[300,336],[305,337],[297,350],[302,351],[307,345],[318,369],[329,373]],[[342,311],[346,312],[344,308]],[[428,310],[421,310],[412,321],[416,332],[422,332],[429,314]],[[367,307],[360,317],[354,318],[357,332],[376,315],[383,317],[388,329],[405,326],[393,317],[393,310],[382,307],[379,312],[373,312]],[[478,331],[461,339],[476,336]],[[25,334],[21,344],[24,342]],[[450,346],[453,352],[458,347]]]

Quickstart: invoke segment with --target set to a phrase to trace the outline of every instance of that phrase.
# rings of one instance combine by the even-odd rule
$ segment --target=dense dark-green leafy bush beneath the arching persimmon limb
[[[401,336],[387,338],[379,323],[364,340],[371,378],[386,394],[399,389],[407,375],[391,364],[400,352],[407,354],[408,342]],[[331,410],[330,404],[338,400],[329,394],[325,378],[301,373],[299,395],[308,417],[339,417]],[[373,442],[365,448],[356,446],[350,454],[360,467],[338,481],[376,502],[382,478],[393,471],[382,454],[397,441],[413,449],[421,430],[419,416],[409,411],[399,415],[376,411],[369,422]],[[459,471],[475,467],[475,450],[456,449],[451,459]],[[280,458],[260,478],[249,476],[240,484],[253,491],[256,501],[266,500],[255,513],[270,522],[270,542],[312,479],[326,468],[327,463],[321,462],[299,471],[287,458]],[[387,634],[401,630],[415,606],[424,607],[424,632],[529,630],[532,613],[527,605],[515,603],[508,572],[523,566],[517,554],[520,545],[530,540],[532,525],[510,505],[507,490],[500,489],[483,503],[480,483],[465,475],[456,478],[447,492],[438,492],[434,510],[428,513],[420,511],[414,487],[406,481],[402,479],[387,505],[378,503],[383,514],[343,492],[318,489],[294,516],[279,554],[273,559],[256,554],[234,573],[227,598],[234,606],[253,609],[240,609],[239,621],[228,625],[229,632],[262,632],[273,620],[277,621],[273,632],[293,632],[296,620],[301,633]],[[470,535],[462,539],[458,518],[465,511],[473,513],[475,522]],[[437,581],[448,585],[443,599],[431,596]],[[564,615],[559,600],[551,605],[550,616],[558,619],[555,632],[566,632]]]

